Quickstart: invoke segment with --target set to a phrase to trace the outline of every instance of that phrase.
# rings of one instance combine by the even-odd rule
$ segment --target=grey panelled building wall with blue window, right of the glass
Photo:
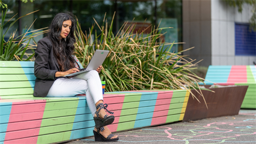
[[[256,33],[249,28],[253,7],[237,7],[223,0],[183,0],[184,54],[201,60],[200,66],[254,65]]]

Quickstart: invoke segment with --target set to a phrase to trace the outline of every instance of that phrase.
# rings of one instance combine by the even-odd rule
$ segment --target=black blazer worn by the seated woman
[[[50,39],[44,37],[37,43],[35,51],[36,83],[34,88],[35,97],[46,97],[55,81],[55,73],[60,71],[57,59],[54,57]]]

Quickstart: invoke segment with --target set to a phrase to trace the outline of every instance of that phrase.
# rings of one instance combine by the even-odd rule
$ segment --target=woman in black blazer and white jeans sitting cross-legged
[[[102,66],[97,70],[65,77],[76,73],[79,67],[73,57],[76,28],[73,14],[59,13],[50,25],[47,37],[38,41],[35,51],[35,97],[74,97],[86,94],[86,101],[94,117],[95,141],[116,141],[106,125],[113,123],[114,116],[106,114],[103,105],[102,85],[99,77]],[[81,68],[81,67],[80,67]],[[106,109],[107,110],[107,109]],[[107,110],[108,111],[108,110]],[[110,111],[108,111],[110,114]]]

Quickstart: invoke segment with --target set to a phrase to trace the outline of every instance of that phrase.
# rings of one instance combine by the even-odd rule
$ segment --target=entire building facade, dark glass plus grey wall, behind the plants
[[[167,32],[162,39],[166,43],[185,42],[176,44],[172,52],[183,52],[191,59],[196,59],[199,66],[209,65],[253,65],[256,62],[256,34],[249,29],[249,19],[252,6],[245,4],[243,12],[227,5],[223,0],[35,0],[33,3],[22,3],[20,0],[2,0],[9,6],[6,19],[14,21],[27,13],[39,10],[19,19],[5,35],[5,40],[17,30],[22,34],[30,25],[30,30],[48,27],[54,15],[59,12],[73,12],[83,31],[95,23],[101,25],[106,18],[111,22],[115,13],[114,33],[117,33],[123,23],[138,23],[137,29],[145,23],[161,27]],[[2,8],[1,8],[2,9]],[[5,11],[5,9],[3,9]],[[106,17],[105,17],[106,13]],[[1,15],[1,14],[0,14]],[[95,25],[94,30],[100,34]],[[35,39],[46,36],[39,35]]]

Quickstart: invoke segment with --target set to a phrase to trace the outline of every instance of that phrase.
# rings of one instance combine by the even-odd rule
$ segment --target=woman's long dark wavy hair
[[[74,68],[74,58],[72,54],[74,52],[76,42],[74,31],[76,28],[76,22],[73,18],[72,13],[58,13],[52,20],[49,26],[50,32],[48,33],[48,38],[51,40],[53,45],[53,54],[59,63],[60,71],[67,71]],[[70,20],[72,26],[70,32],[66,39],[60,38],[60,33],[62,29],[63,21]]]

